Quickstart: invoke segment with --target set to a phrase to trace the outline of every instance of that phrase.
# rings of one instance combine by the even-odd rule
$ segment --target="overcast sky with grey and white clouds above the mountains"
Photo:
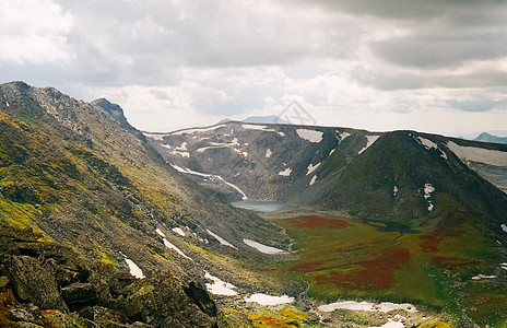
[[[106,97],[141,130],[281,115],[507,130],[507,1],[2,0],[0,83]]]

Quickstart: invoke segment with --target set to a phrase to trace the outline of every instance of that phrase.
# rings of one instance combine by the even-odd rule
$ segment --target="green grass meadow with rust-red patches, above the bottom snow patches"
[[[463,316],[494,327],[507,320],[507,272],[498,265],[503,248],[472,216],[449,231],[410,234],[338,216],[315,224],[305,218],[274,222],[295,239],[298,255],[281,269],[302,274],[311,297],[410,302],[451,314],[456,325]],[[480,273],[498,277],[471,279]]]

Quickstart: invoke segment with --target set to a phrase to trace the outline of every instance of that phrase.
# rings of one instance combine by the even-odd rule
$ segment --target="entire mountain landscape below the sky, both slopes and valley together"
[[[0,324],[502,327],[506,163],[416,131],[141,133],[106,99],[2,84]]]

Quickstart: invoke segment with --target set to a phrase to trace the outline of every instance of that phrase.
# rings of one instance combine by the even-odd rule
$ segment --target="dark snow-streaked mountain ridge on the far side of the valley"
[[[460,204],[504,237],[502,144],[234,121],[145,136],[173,167],[224,199],[285,200],[421,226],[448,222]]]

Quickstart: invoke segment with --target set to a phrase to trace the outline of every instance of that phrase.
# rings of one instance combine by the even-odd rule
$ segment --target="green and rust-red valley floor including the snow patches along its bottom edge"
[[[243,307],[255,326],[291,327],[283,313],[300,312],[303,327],[507,327],[504,250],[474,222],[424,231],[308,208],[261,215],[294,241],[274,274],[308,288],[296,306]]]

